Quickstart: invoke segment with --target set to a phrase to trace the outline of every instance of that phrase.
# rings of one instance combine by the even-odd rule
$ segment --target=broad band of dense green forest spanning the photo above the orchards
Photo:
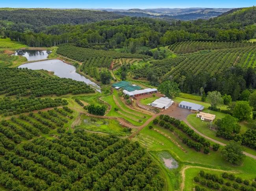
[[[70,24],[58,22],[56,25],[57,23],[52,21],[55,20],[55,17],[47,17],[48,19],[45,20],[48,20],[50,26],[39,29],[39,31],[32,31],[28,27],[22,27],[22,30],[11,28],[11,25],[6,24],[8,21],[8,17],[6,17],[2,18],[0,22],[0,26],[2,25],[0,30],[3,37],[9,36],[13,40],[30,46],[49,47],[73,42],[79,46],[100,44],[107,48],[125,47],[130,52],[136,48],[138,53],[143,46],[154,48],[158,45],[169,45],[184,40],[225,42],[249,40],[254,38],[256,32],[256,26],[253,25],[255,10],[255,7],[249,7],[210,20],[174,20],[172,22],[151,18],[124,17],[93,24],[70,25],[72,22]],[[79,10],[77,11],[79,12]],[[44,10],[42,12],[44,13]],[[54,13],[54,11],[52,12]],[[68,11],[66,12],[68,13]],[[89,11],[89,13],[91,12]],[[110,14],[108,12],[100,13]],[[15,16],[15,14],[12,15]],[[72,20],[72,17],[70,19]],[[106,19],[111,18],[106,17]],[[25,20],[24,23],[30,24],[30,21]],[[41,21],[35,21],[35,23],[35,25],[40,25]]]

